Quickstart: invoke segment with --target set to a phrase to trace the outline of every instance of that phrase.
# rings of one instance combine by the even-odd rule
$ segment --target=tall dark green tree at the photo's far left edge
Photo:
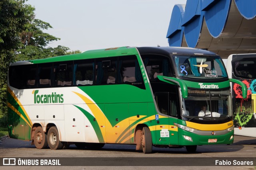
[[[0,1],[0,126],[6,124],[6,72],[20,47],[19,33],[32,21],[34,8],[26,0]]]

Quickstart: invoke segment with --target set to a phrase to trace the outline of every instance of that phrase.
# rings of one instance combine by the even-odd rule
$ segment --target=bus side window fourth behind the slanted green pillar
[[[64,87],[72,85],[72,64],[72,62],[54,63],[54,87]]]

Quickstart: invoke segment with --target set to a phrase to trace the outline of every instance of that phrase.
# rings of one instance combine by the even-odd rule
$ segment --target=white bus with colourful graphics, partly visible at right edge
[[[232,54],[226,62],[229,78],[244,82],[247,98],[242,98],[241,86],[232,83],[234,134],[256,137],[256,54]]]

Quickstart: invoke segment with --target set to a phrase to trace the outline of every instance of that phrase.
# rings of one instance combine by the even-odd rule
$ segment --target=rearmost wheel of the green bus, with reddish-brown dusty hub
[[[41,126],[36,127],[34,133],[34,144],[37,149],[45,149],[48,146],[47,135]]]

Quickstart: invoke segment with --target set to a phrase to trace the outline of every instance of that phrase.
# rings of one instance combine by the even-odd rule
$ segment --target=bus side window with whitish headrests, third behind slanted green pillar
[[[74,86],[89,86],[93,84],[94,60],[74,62]]]

